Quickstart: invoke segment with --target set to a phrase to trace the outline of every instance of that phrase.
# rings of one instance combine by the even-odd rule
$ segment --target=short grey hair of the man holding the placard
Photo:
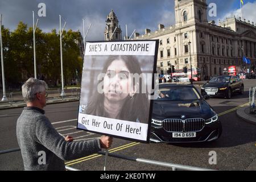
[[[36,99],[35,94],[38,92],[44,92],[48,88],[47,84],[43,80],[37,80],[35,78],[29,78],[22,85],[22,96],[25,102],[32,102]]]

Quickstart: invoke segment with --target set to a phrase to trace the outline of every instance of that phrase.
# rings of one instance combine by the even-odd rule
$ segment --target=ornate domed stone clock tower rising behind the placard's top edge
[[[105,40],[122,40],[122,30],[120,26],[118,27],[119,22],[113,10],[111,10],[109,15],[107,16],[107,20],[108,19],[110,20],[110,22],[109,22],[109,25],[108,23],[106,23],[106,27],[104,31]]]

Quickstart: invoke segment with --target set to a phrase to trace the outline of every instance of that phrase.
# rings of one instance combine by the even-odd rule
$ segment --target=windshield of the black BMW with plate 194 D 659
[[[157,101],[199,100],[200,95],[193,87],[174,86],[159,88]]]

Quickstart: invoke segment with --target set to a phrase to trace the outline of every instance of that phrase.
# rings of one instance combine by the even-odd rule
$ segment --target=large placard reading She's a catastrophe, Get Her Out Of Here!
[[[87,42],[77,129],[149,142],[158,40]]]

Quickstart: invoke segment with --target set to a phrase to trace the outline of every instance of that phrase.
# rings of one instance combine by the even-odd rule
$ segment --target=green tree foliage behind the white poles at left
[[[11,32],[2,26],[3,53],[6,85],[18,85],[29,77],[34,77],[33,29],[19,22]],[[42,32],[36,28],[36,66],[37,77],[49,85],[61,83],[60,36],[59,31]],[[82,72],[82,58],[79,31],[63,32],[63,72],[64,84],[70,85],[79,80]],[[82,43],[81,43],[82,44]],[[2,76],[2,74],[1,74]],[[1,77],[0,76],[0,77]]]

